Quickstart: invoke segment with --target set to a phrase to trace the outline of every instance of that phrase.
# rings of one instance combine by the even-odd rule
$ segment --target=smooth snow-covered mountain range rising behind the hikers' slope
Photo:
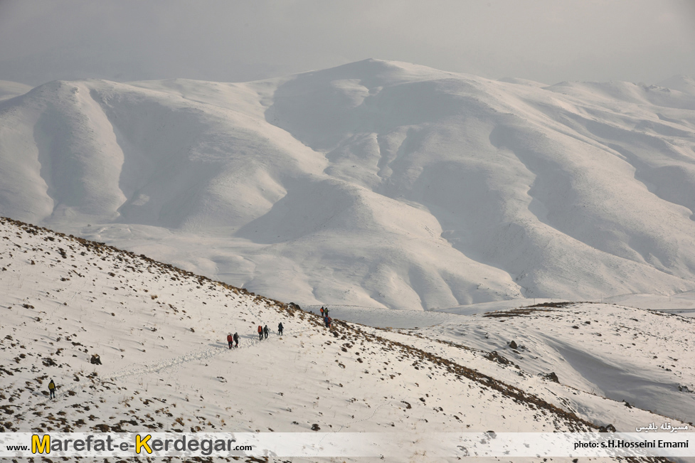
[[[0,214],[299,304],[695,289],[695,85],[366,60],[0,102]]]

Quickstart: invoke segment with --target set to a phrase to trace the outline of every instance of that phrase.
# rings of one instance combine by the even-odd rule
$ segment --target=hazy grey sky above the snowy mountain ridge
[[[557,83],[695,75],[695,0],[0,0],[0,80],[243,81],[366,58]]]

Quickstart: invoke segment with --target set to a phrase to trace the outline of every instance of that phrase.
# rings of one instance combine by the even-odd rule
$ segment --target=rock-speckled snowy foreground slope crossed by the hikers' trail
[[[684,340],[667,345],[659,332],[654,341],[641,339],[630,357],[640,374],[652,371],[653,380],[662,360],[684,353],[678,372],[660,378],[689,389],[681,399],[669,396],[668,405],[681,407],[669,421],[681,424],[672,418],[693,411],[693,329],[689,319],[674,315],[576,304],[531,311],[536,319],[498,313],[467,322],[461,316],[458,328],[453,321],[421,330],[336,321],[328,330],[314,314],[282,302],[9,219],[0,219],[0,287],[4,431],[310,432],[317,425],[317,432],[417,436],[597,430],[608,424],[633,431],[666,418],[588,391],[588,373],[578,378],[570,368],[558,368],[559,383],[536,374],[558,365],[558,358],[546,356],[547,346],[562,340],[566,351],[578,349],[598,336],[595,331],[605,331],[605,344],[595,348],[612,355],[618,342],[626,344],[638,332],[628,315],[640,333],[659,317],[675,340]],[[595,326],[597,311],[606,312],[605,321]],[[585,319],[590,327],[566,336],[570,324]],[[529,320],[546,337],[515,337],[518,350],[509,351],[502,339]],[[279,321],[284,336],[275,333]],[[258,324],[272,329],[269,339],[258,341]],[[625,332],[608,332],[623,324]],[[235,331],[240,348],[229,350],[225,337]],[[649,360],[652,353],[659,366]],[[92,354],[102,365],[90,364]],[[536,356],[543,361],[529,360]],[[58,385],[55,400],[47,398],[51,378]],[[398,452],[388,461],[457,460],[433,448],[429,456],[408,447]]]

